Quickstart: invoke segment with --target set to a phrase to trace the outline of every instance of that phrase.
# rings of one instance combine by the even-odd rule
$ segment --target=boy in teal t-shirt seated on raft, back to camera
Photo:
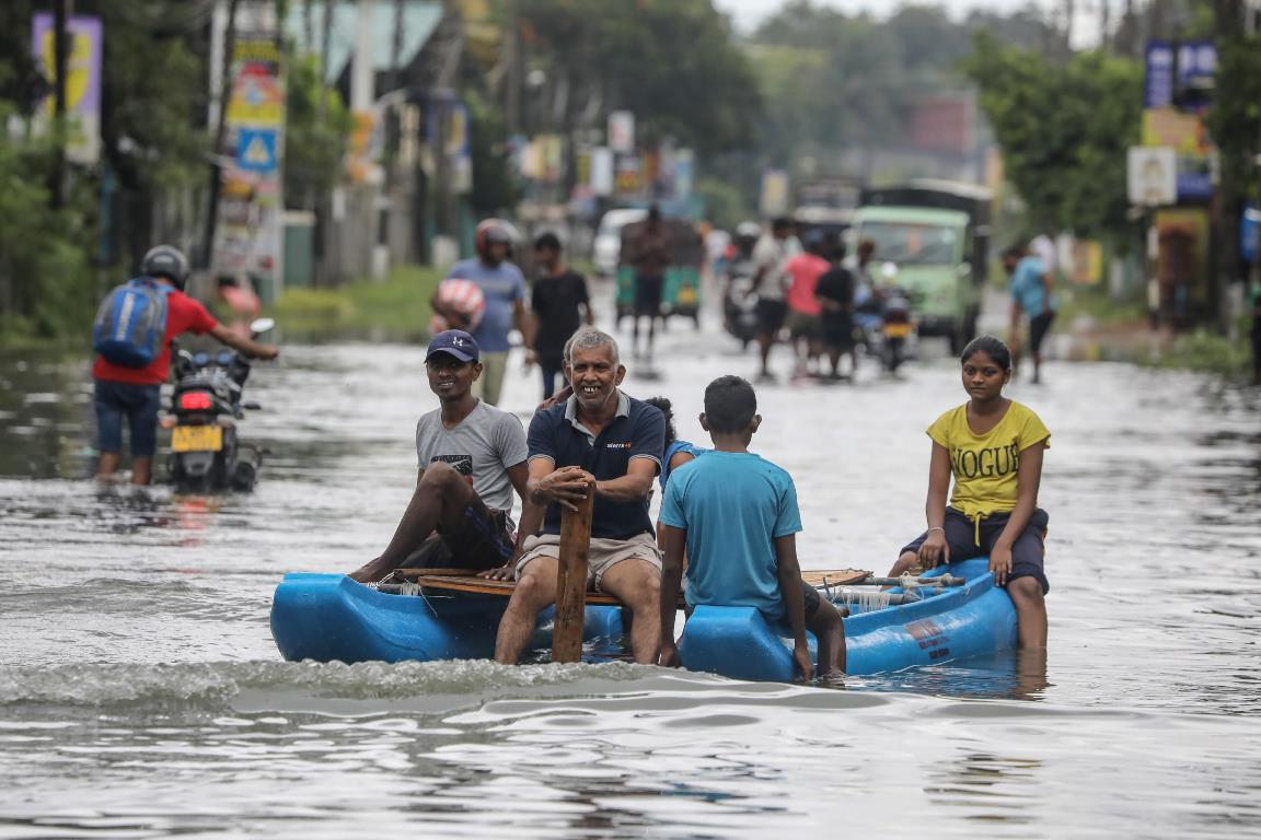
[[[773,626],[792,628],[802,676],[815,666],[806,628],[818,641],[818,670],[845,670],[845,630],[836,608],[802,582],[797,564],[801,511],[792,477],[749,452],[762,417],[758,398],[739,377],[705,389],[701,428],[714,451],[682,465],[666,485],[657,540],[665,553],[661,579],[662,665],[678,665],[675,612],[687,554],[687,607],[757,607]]]

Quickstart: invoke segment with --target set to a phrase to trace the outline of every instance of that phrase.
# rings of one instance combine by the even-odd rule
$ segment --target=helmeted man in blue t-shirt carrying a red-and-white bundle
[[[473,395],[498,406],[503,377],[508,370],[508,332],[516,326],[521,335],[530,335],[526,324],[526,278],[508,261],[512,236],[498,219],[485,219],[477,225],[474,244],[477,258],[455,263],[446,272],[446,278],[474,282],[485,296],[482,322],[470,330],[482,351],[483,365],[482,377],[473,383]],[[430,297],[429,305],[446,319],[451,329],[472,326],[463,314],[438,300],[436,292]]]

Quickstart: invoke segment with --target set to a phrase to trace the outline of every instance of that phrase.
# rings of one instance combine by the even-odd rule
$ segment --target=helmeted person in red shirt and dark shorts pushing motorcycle
[[[141,273],[166,287],[163,290],[166,327],[158,355],[142,368],[116,364],[100,354],[92,364],[97,451],[101,453],[96,477],[101,481],[108,481],[119,470],[124,418],[131,432],[131,482],[146,485],[153,480],[160,389],[170,373],[170,345],[177,336],[184,332],[209,334],[230,348],[259,359],[275,359],[280,353],[274,345],[235,335],[214,320],[204,306],[184,293],[188,258],[178,248],[158,246],[150,249],[145,254]]]

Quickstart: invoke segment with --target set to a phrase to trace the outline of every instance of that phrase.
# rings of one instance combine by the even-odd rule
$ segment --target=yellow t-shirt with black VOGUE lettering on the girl
[[[977,434],[967,422],[967,404],[952,408],[928,427],[928,437],[950,451],[955,490],[951,508],[970,519],[1008,513],[1016,506],[1020,453],[1042,443],[1050,432],[1031,411],[1013,400],[997,426]]]

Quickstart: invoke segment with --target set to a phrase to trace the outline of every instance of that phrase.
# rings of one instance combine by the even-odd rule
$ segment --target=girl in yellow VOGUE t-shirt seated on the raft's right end
[[[902,549],[890,574],[989,554],[995,582],[1016,607],[1020,646],[1045,647],[1043,596],[1050,584],[1043,570],[1047,513],[1038,509],[1038,484],[1050,432],[1029,408],[1002,395],[1011,379],[1008,345],[982,335],[960,360],[968,402],[928,427],[928,530]]]

